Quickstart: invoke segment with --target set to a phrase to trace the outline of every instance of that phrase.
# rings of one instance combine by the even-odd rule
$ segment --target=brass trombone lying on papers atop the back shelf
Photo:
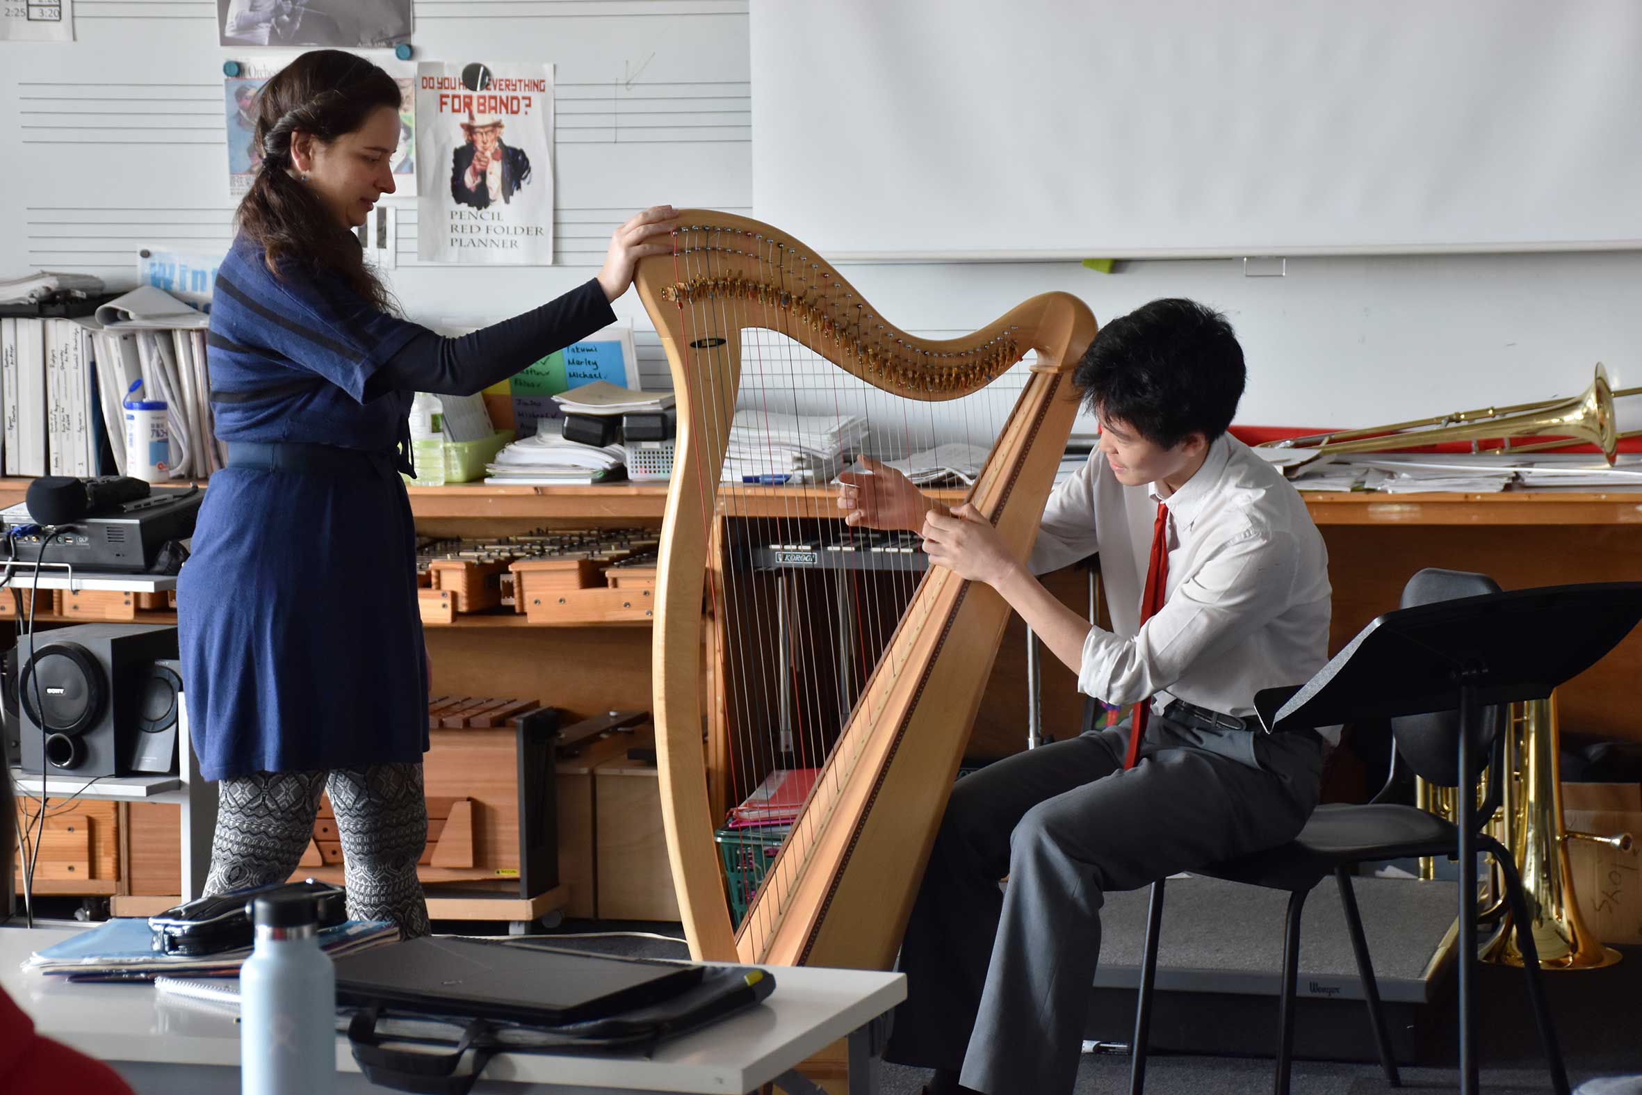
[[[1315,448],[1322,453],[1383,453],[1394,448],[1471,442],[1475,453],[1516,455],[1566,445],[1596,445],[1608,463],[1614,463],[1621,437],[1639,437],[1642,430],[1619,433],[1614,399],[1642,394],[1642,387],[1614,391],[1608,369],[1598,363],[1596,376],[1583,394],[1571,399],[1542,399],[1509,407],[1456,410],[1435,419],[1414,419],[1360,430],[1333,430],[1263,442],[1263,448]],[[1514,437],[1552,435],[1557,440],[1512,445]],[[1481,448],[1479,442],[1501,438],[1498,448]]]

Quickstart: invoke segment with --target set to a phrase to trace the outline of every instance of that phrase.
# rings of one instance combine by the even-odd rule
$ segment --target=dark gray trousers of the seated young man
[[[987,1095],[1071,1092],[1105,893],[1282,844],[1317,804],[1310,732],[1153,714],[1128,772],[1126,744],[1126,724],[1090,731],[957,781],[901,942],[888,1061],[961,1069]]]

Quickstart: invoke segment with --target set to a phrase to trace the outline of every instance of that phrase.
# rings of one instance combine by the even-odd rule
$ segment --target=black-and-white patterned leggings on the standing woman
[[[429,934],[415,862],[427,844],[420,763],[332,772],[253,772],[218,785],[205,893],[284,882],[314,839],[320,791],[342,834],[348,916],[391,919],[406,939]]]

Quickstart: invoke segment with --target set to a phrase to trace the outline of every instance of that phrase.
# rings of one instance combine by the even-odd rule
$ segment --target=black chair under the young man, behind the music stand
[[[1430,604],[1433,601],[1450,601],[1456,598],[1499,593],[1499,586],[1483,575],[1468,575],[1450,570],[1422,570],[1409,580],[1402,591],[1402,607]],[[1484,708],[1481,740],[1476,757],[1494,757],[1499,763],[1501,750],[1498,734],[1504,712],[1499,708]],[[1460,829],[1414,806],[1402,806],[1383,801],[1399,781],[1401,762],[1406,762],[1427,783],[1437,786],[1471,788],[1475,795],[1476,780],[1484,767],[1478,763],[1478,772],[1466,773],[1461,780],[1456,760],[1460,740],[1458,712],[1435,712],[1404,716],[1391,719],[1392,731],[1392,768],[1386,786],[1373,801],[1363,806],[1325,804],[1319,806],[1310,821],[1294,841],[1264,852],[1210,864],[1192,873],[1241,882],[1269,890],[1287,890],[1289,911],[1284,926],[1282,947],[1282,995],[1277,1006],[1277,1061],[1274,1088],[1277,1095],[1289,1092],[1289,1072],[1294,1052],[1294,992],[1299,975],[1300,957],[1300,911],[1305,896],[1328,875],[1335,877],[1340,887],[1340,903],[1345,908],[1346,924],[1351,932],[1351,951],[1356,955],[1356,970],[1363,983],[1363,998],[1368,1003],[1368,1018],[1374,1029],[1374,1044],[1379,1051],[1379,1065],[1391,1087],[1401,1087],[1396,1061],[1391,1057],[1391,1038],[1386,1019],[1379,1006],[1379,988],[1374,983],[1374,967],[1368,957],[1368,942],[1363,937],[1363,919],[1356,909],[1356,895],[1351,890],[1351,870],[1358,864],[1404,859],[1419,855],[1456,855],[1460,847]],[[1494,745],[1489,749],[1489,745]],[[1489,780],[1489,799],[1478,811],[1478,826],[1484,824],[1498,806],[1499,778]],[[1506,878],[1506,898],[1511,903],[1512,924],[1517,931],[1517,946],[1524,955],[1524,974],[1527,977],[1529,1001],[1534,1008],[1534,1019],[1539,1024],[1540,1039],[1545,1044],[1545,1056],[1550,1065],[1550,1079],[1557,1095],[1568,1093],[1568,1075],[1563,1069],[1562,1052],[1557,1047],[1557,1036],[1552,1029],[1550,1013],[1545,1008],[1545,996],[1539,982],[1539,951],[1534,947],[1534,934],[1529,929],[1530,919],[1522,898],[1522,882],[1517,877],[1516,862],[1509,850],[1486,834],[1476,836],[1478,847],[1499,864]],[[1461,885],[1468,870],[1461,865]],[[1410,883],[1412,885],[1412,883]],[[1130,1092],[1141,1095],[1146,1079],[1146,1036],[1151,1023],[1153,982],[1158,974],[1158,936],[1163,921],[1164,883],[1158,880],[1151,887],[1151,901],[1146,911],[1146,946],[1141,959],[1140,1000],[1135,1008],[1135,1044],[1130,1069]],[[1475,954],[1460,954],[1460,962],[1475,962]],[[1461,990],[1470,978],[1461,978]],[[1475,1010],[1461,1001],[1461,1016],[1475,1016]]]

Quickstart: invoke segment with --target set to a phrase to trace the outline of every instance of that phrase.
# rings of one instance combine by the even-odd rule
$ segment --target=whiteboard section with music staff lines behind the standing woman
[[[80,0],[72,43],[0,43],[0,276],[82,271],[130,287],[141,248],[222,256],[233,238],[223,62],[299,51],[220,46],[215,0]],[[611,230],[660,202],[749,212],[745,0],[419,0],[415,56],[356,51],[394,76],[419,61],[552,64],[553,264],[415,258],[415,199],[396,212],[402,312],[466,328],[593,277]],[[635,297],[619,304],[639,317]],[[655,337],[647,373],[665,378]]]

